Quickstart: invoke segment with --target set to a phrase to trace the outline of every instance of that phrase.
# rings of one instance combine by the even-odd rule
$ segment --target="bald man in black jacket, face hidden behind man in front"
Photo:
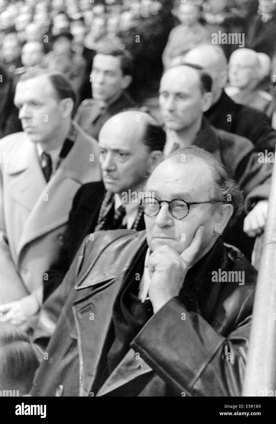
[[[203,67],[212,77],[213,101],[204,113],[216,128],[247,137],[258,152],[275,151],[276,132],[268,117],[249,106],[235,103],[224,91],[228,80],[227,60],[221,47],[201,45],[190,50],[175,63],[191,63]]]

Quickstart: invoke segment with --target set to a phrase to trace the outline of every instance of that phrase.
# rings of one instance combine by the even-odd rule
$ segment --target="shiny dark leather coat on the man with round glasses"
[[[145,232],[98,232],[93,243],[87,237],[58,288],[66,304],[32,396],[56,391],[59,396],[241,396],[257,272],[221,240],[188,271],[179,296],[136,330],[121,362],[101,380],[106,343],[114,337],[116,296],[134,280],[134,262],[144,261],[146,249]],[[219,269],[244,272],[244,284],[215,282]],[[59,306],[51,298],[46,302],[47,325],[37,330],[37,342],[47,342]]]

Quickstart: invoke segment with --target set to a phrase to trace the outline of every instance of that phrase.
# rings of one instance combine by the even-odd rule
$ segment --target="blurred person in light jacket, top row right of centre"
[[[208,31],[199,22],[200,8],[196,4],[192,2],[179,3],[176,15],[181,23],[169,33],[169,39],[162,55],[165,69],[173,58],[185,54],[197,44],[206,42],[208,36]]]

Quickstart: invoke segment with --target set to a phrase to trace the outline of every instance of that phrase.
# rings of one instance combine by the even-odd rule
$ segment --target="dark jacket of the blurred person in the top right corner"
[[[266,53],[272,59],[276,52],[276,13],[268,22],[262,22],[259,15],[248,22],[245,47]]]

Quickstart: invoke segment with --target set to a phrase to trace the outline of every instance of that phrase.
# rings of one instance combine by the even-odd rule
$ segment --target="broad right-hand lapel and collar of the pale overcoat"
[[[35,146],[34,146],[35,148]],[[90,159],[94,155],[93,161]],[[23,247],[52,230],[64,225],[68,221],[68,215],[72,206],[73,197],[78,188],[86,183],[101,180],[101,171],[99,167],[99,147],[96,141],[94,144],[91,139],[80,131],[76,141],[68,153],[68,156],[61,163],[58,170],[51,177],[48,184],[36,184],[36,176],[44,179],[39,163],[28,164],[25,170],[27,175],[31,175],[31,170],[36,166],[36,173],[33,175],[31,188],[37,195],[36,201],[32,197],[31,213],[26,221],[22,235],[20,237],[17,255]],[[37,169],[37,166],[39,169]],[[44,179],[45,180],[45,179]],[[28,179],[30,181],[30,178]],[[29,197],[31,197],[31,193]],[[21,195],[21,197],[23,197]],[[26,202],[27,203],[27,202]]]

